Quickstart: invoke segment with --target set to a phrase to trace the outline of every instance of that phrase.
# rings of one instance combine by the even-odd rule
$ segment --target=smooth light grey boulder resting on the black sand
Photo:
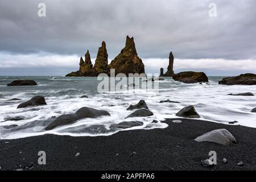
[[[212,130],[197,137],[195,140],[196,142],[214,142],[225,146],[237,143],[236,138],[226,129]]]

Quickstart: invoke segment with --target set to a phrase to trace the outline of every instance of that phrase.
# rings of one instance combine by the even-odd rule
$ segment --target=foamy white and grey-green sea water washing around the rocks
[[[159,92],[154,90],[127,90],[117,92],[98,93],[100,81],[97,77],[60,77],[60,76],[1,76],[0,77],[0,139],[15,139],[32,137],[44,134],[79,136],[112,135],[118,131],[110,131],[109,126],[122,121],[142,121],[143,126],[130,129],[163,129],[166,123],[152,123],[155,119],[177,118],[175,114],[185,106],[194,105],[202,120],[234,125],[256,127],[256,113],[251,109],[256,107],[256,97],[228,96],[229,93],[251,92],[256,95],[256,85],[218,85],[222,77],[208,77],[209,84],[183,84],[172,78],[164,78],[159,82]],[[18,79],[32,79],[36,86],[6,86],[9,82]],[[80,98],[86,95],[89,98]],[[47,105],[16,107],[34,96],[44,96]],[[20,98],[18,101],[8,101]],[[179,103],[159,103],[163,100]],[[133,111],[126,110],[131,104],[144,100],[154,113],[150,117],[127,118]],[[85,118],[46,131],[46,126],[53,117],[61,114],[75,113],[81,107],[106,110],[110,116]],[[19,121],[10,118],[23,117]],[[196,122],[196,121],[195,121]],[[18,125],[12,129],[6,126]],[[191,128],[191,130],[193,130]]]

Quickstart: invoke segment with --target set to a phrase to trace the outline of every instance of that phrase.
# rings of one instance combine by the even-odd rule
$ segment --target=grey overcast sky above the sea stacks
[[[46,17],[38,4],[46,4]],[[210,17],[210,3],[217,16]],[[105,40],[109,63],[133,36],[147,73],[256,73],[255,0],[1,0],[0,75],[65,75]]]

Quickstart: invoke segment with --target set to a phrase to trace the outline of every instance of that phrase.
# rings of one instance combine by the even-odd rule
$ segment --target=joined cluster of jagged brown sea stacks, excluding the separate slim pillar
[[[115,69],[115,75],[124,73],[126,76],[129,73],[144,73],[144,64],[138,57],[133,38],[126,37],[125,48],[119,53],[114,60],[108,65],[108,52],[106,43],[102,42],[98,48],[97,58],[94,66],[90,60],[89,51],[85,54],[85,61],[80,58],[79,71],[69,73],[66,76],[98,76],[100,73],[110,75],[110,69]]]

